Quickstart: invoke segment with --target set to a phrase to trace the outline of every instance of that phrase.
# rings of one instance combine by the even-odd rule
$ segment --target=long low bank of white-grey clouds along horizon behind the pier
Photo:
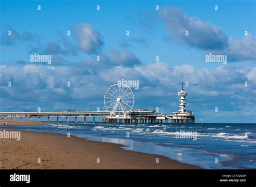
[[[209,70],[195,69],[190,65],[170,67],[164,62],[120,68],[114,63],[111,65],[111,60],[111,57],[105,56],[105,62],[98,63],[107,65],[97,70],[97,64],[89,66],[97,62],[92,59],[80,62],[80,67],[26,64],[18,69],[1,66],[0,103],[5,105],[4,110],[12,111],[36,110],[38,106],[42,110],[66,110],[69,107],[78,110],[102,109],[106,89],[124,78],[139,81],[139,90],[133,89],[137,109],[159,107],[164,112],[178,110],[177,91],[180,88],[174,85],[168,89],[169,83],[187,81],[187,108],[196,112],[197,119],[200,116],[205,120],[218,120],[217,116],[231,117],[234,113],[244,113],[245,109],[250,110],[244,116],[255,115],[255,68],[219,66]],[[9,81],[12,87],[7,86]],[[70,82],[70,87],[67,82]],[[219,113],[214,112],[215,107],[218,107]],[[232,119],[236,117],[232,116]]]

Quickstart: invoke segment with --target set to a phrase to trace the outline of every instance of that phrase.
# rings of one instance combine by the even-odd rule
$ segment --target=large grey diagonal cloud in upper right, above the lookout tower
[[[227,37],[215,25],[188,17],[176,7],[166,7],[161,12],[170,38],[185,42],[190,47],[196,47],[204,53],[226,54],[228,61],[255,61],[255,37],[248,33],[244,38],[234,40]],[[188,35],[185,32],[188,31]]]

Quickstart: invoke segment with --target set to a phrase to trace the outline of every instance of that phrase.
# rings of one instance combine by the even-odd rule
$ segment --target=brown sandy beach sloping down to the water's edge
[[[33,121],[19,125],[24,122],[38,125]],[[124,150],[114,143],[62,134],[21,131],[21,140],[1,138],[0,145],[1,169],[200,169],[165,156]]]

